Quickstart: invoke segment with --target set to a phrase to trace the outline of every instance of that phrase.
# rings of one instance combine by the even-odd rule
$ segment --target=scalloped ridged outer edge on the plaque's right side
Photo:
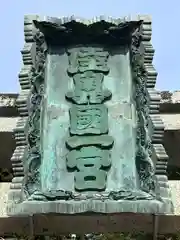
[[[159,185],[159,194],[162,198],[170,200],[170,191],[167,178],[168,156],[163,147],[164,124],[160,118],[159,108],[161,96],[154,89],[157,72],[152,64],[154,49],[151,44],[152,27],[151,21],[144,20],[142,25],[142,44],[144,48],[144,69],[146,71],[146,87],[149,102],[149,136],[152,144],[152,159],[155,162],[155,176]]]

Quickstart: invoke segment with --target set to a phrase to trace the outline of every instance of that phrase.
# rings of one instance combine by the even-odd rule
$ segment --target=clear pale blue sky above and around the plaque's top
[[[120,17],[150,14],[153,19],[152,43],[156,50],[158,90],[180,89],[180,2],[179,0],[1,0],[0,6],[0,92],[18,92],[22,66],[25,14],[49,16],[97,15]]]

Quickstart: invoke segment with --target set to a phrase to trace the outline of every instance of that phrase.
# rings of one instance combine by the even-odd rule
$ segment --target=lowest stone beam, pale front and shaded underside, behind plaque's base
[[[175,207],[174,215],[152,215],[133,213],[111,214],[39,214],[34,216],[7,217],[6,207],[10,183],[0,183],[0,235],[11,236],[58,236],[73,232],[97,233],[149,233],[177,234],[180,230],[179,181],[169,181]],[[155,224],[156,223],[156,224]]]

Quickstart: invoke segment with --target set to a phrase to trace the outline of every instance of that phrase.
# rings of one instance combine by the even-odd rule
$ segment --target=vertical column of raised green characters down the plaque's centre
[[[72,102],[69,111],[70,139],[76,136],[76,142],[81,142],[86,137],[86,144],[68,153],[67,169],[75,171],[74,186],[77,191],[102,191],[106,189],[107,171],[111,166],[110,149],[97,147],[102,146],[104,137],[108,136],[108,109],[103,102],[111,97],[111,92],[103,87],[103,79],[109,72],[109,53],[103,48],[93,47],[67,52],[67,72],[74,81],[73,91],[66,93],[66,98]],[[92,141],[93,135],[98,135],[96,142]]]

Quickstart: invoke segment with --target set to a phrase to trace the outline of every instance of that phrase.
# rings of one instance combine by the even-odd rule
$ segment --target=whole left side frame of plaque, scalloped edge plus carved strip
[[[11,158],[14,178],[9,199],[13,202],[23,200],[22,185],[29,188],[27,182],[31,182],[29,180],[33,175],[38,175],[40,163],[40,128],[36,126],[40,124],[46,46],[42,33],[33,23],[37,19],[38,16],[25,16],[24,19],[25,45],[21,51],[23,67],[19,73],[21,92],[16,101],[20,119],[14,129],[16,149]],[[27,159],[29,162],[26,162]],[[30,169],[32,164],[34,167]],[[32,187],[36,188],[35,184],[32,183]]]

